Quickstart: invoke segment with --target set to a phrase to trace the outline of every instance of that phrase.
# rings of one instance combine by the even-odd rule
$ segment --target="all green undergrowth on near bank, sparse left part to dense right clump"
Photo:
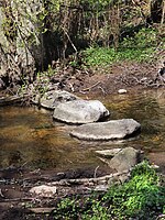
[[[165,213],[165,187],[156,172],[143,162],[131,172],[128,183],[106,194],[63,199],[54,219],[65,220],[155,220]],[[158,218],[160,219],[160,218]]]

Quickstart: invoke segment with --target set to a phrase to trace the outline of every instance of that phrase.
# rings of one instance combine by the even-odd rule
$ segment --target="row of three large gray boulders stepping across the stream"
[[[141,124],[133,119],[98,122],[110,116],[109,110],[98,100],[84,100],[68,91],[48,91],[42,98],[36,96],[33,101],[43,108],[54,110],[55,120],[82,124],[69,132],[80,140],[123,140],[141,130]]]

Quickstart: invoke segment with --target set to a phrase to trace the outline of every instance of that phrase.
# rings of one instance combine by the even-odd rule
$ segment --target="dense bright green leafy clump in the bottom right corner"
[[[129,217],[155,219],[165,208],[165,188],[158,186],[158,177],[146,162],[138,165],[129,183],[112,187],[105,196],[118,219]]]

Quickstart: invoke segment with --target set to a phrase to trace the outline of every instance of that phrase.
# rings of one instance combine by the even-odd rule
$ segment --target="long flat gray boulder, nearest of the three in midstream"
[[[84,124],[70,132],[70,135],[80,140],[110,141],[133,136],[141,129],[141,124],[133,119],[111,120]]]

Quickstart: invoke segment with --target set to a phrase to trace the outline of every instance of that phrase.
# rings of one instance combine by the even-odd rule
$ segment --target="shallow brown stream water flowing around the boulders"
[[[165,91],[98,97],[110,119],[133,118],[142,133],[123,142],[85,142],[69,136],[74,127],[52,120],[52,112],[35,107],[0,107],[0,168],[55,168],[101,165],[96,150],[133,146],[165,168]]]

